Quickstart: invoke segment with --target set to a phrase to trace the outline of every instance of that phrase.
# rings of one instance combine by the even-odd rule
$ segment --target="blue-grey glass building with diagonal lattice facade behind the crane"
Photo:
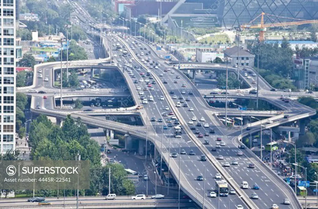
[[[223,0],[222,4],[222,13],[218,14],[222,27],[248,24],[261,12],[289,18],[318,19],[318,0]],[[266,18],[265,23],[293,21],[287,18],[271,18]]]

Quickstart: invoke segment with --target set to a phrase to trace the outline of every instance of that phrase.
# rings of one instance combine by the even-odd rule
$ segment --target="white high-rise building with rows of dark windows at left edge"
[[[0,151],[15,150],[16,0],[0,0]]]

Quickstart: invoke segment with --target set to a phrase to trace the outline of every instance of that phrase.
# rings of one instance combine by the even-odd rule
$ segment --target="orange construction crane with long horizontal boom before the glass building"
[[[259,41],[262,42],[265,39],[265,29],[269,27],[280,27],[280,26],[289,26],[289,25],[301,25],[301,24],[312,24],[312,23],[318,23],[318,20],[302,20],[302,21],[293,21],[293,22],[283,22],[283,23],[271,23],[271,24],[264,24],[264,16],[273,16],[273,17],[280,17],[276,15],[270,15],[262,12],[260,15],[258,15],[256,18],[254,18],[249,24],[241,25],[242,29],[254,29],[259,28],[261,29],[259,31]],[[251,24],[254,22],[258,17],[261,17],[260,24],[253,25]],[[284,18],[284,17],[283,17]],[[287,17],[286,17],[287,18]],[[295,19],[295,20],[301,20],[296,18],[289,18],[289,19]]]

